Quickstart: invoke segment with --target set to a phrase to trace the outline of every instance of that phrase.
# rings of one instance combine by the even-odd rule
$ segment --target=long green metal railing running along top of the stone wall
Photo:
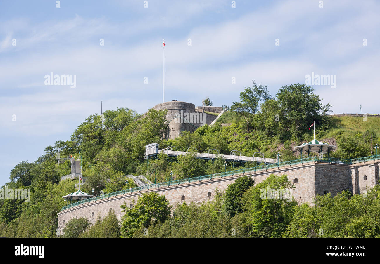
[[[158,189],[160,187],[169,187],[169,186],[173,186],[173,185],[180,185],[182,183],[192,183],[192,182],[200,182],[203,180],[212,180],[212,179],[223,178],[223,177],[231,176],[231,175],[245,174],[245,173],[249,173],[249,172],[266,171],[268,169],[281,168],[281,167],[285,167],[285,166],[292,166],[292,165],[304,164],[304,163],[309,163],[309,162],[326,162],[326,163],[332,163],[332,164],[348,164],[348,165],[351,165],[353,163],[374,161],[374,160],[379,160],[379,159],[380,159],[380,155],[374,155],[374,156],[363,157],[363,158],[355,158],[355,159],[308,157],[308,158],[299,159],[299,160],[289,160],[289,161],[283,161],[283,162],[278,162],[278,163],[272,163],[272,164],[268,164],[268,165],[255,166],[252,168],[246,168],[246,169],[244,168],[244,169],[238,169],[238,170],[234,170],[234,171],[219,172],[219,173],[215,173],[215,174],[203,175],[203,176],[192,177],[192,178],[187,178],[187,179],[171,180],[169,182],[154,183],[154,184],[148,184],[148,185],[141,186],[141,187],[130,188],[127,190],[115,191],[113,193],[108,193],[108,194],[96,196],[96,197],[93,197],[90,199],[82,200],[79,202],[74,202],[73,204],[68,204],[67,206],[63,206],[61,211],[72,208],[72,207],[76,207],[79,205],[83,205],[86,203],[90,203],[93,201],[101,201],[103,199],[108,199],[108,198],[111,198],[111,197],[114,197],[114,196],[117,196],[120,194],[122,194],[122,195],[130,194],[130,193],[135,193],[135,192],[139,192],[142,190]]]

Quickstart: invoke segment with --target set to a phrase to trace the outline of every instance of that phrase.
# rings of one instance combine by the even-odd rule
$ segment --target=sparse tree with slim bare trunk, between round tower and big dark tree
[[[243,116],[247,122],[247,134],[249,133],[250,116],[256,114],[260,101],[270,99],[267,88],[267,85],[257,85],[253,81],[253,87],[244,88],[244,92],[240,92],[240,101],[232,102],[231,111]]]

